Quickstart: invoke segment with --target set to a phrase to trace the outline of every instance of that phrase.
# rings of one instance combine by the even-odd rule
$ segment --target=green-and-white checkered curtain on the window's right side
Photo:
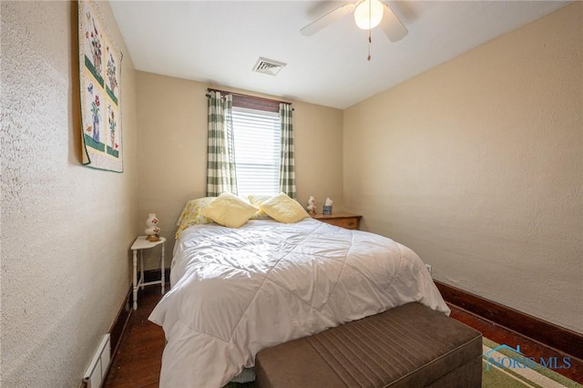
[[[293,162],[293,109],[290,104],[280,104],[281,166],[280,191],[295,199],[295,166]]]

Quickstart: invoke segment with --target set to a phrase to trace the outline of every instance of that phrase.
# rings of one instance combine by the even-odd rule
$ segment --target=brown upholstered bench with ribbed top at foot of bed
[[[420,303],[264,349],[260,388],[480,387],[482,334]]]

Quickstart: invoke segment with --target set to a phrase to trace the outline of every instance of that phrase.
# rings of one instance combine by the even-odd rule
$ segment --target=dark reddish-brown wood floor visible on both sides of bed
[[[159,287],[148,287],[140,291],[138,310],[131,311],[126,330],[120,340],[118,352],[114,355],[111,368],[107,374],[106,388],[118,387],[158,387],[162,352],[164,350],[164,332],[157,324],[148,321],[149,313],[160,300]],[[511,347],[520,345],[520,350],[528,357],[562,357],[568,356],[532,341],[517,332],[506,330],[502,326],[481,319],[480,317],[450,305],[451,317],[476,328],[497,343]],[[583,383],[583,361],[571,357],[571,367],[557,370],[569,379]]]

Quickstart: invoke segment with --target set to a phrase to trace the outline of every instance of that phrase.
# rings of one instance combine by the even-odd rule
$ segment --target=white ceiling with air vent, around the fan
[[[138,70],[345,108],[568,4],[566,1],[399,1],[409,30],[391,43],[346,15],[314,36],[300,29],[346,2],[111,1]],[[287,63],[273,77],[260,56]]]

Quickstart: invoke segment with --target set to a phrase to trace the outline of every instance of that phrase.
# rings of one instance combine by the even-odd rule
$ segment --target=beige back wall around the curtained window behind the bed
[[[189,199],[204,197],[207,168],[207,84],[138,74],[139,215],[155,212],[171,252],[176,221]],[[222,87],[220,87],[222,89]],[[233,90],[253,95],[251,92]],[[277,98],[277,97],[275,97]],[[297,198],[313,195],[322,209],[332,198],[343,206],[343,113],[292,101]],[[158,262],[146,254],[148,268]],[[167,255],[167,267],[171,255]]]

